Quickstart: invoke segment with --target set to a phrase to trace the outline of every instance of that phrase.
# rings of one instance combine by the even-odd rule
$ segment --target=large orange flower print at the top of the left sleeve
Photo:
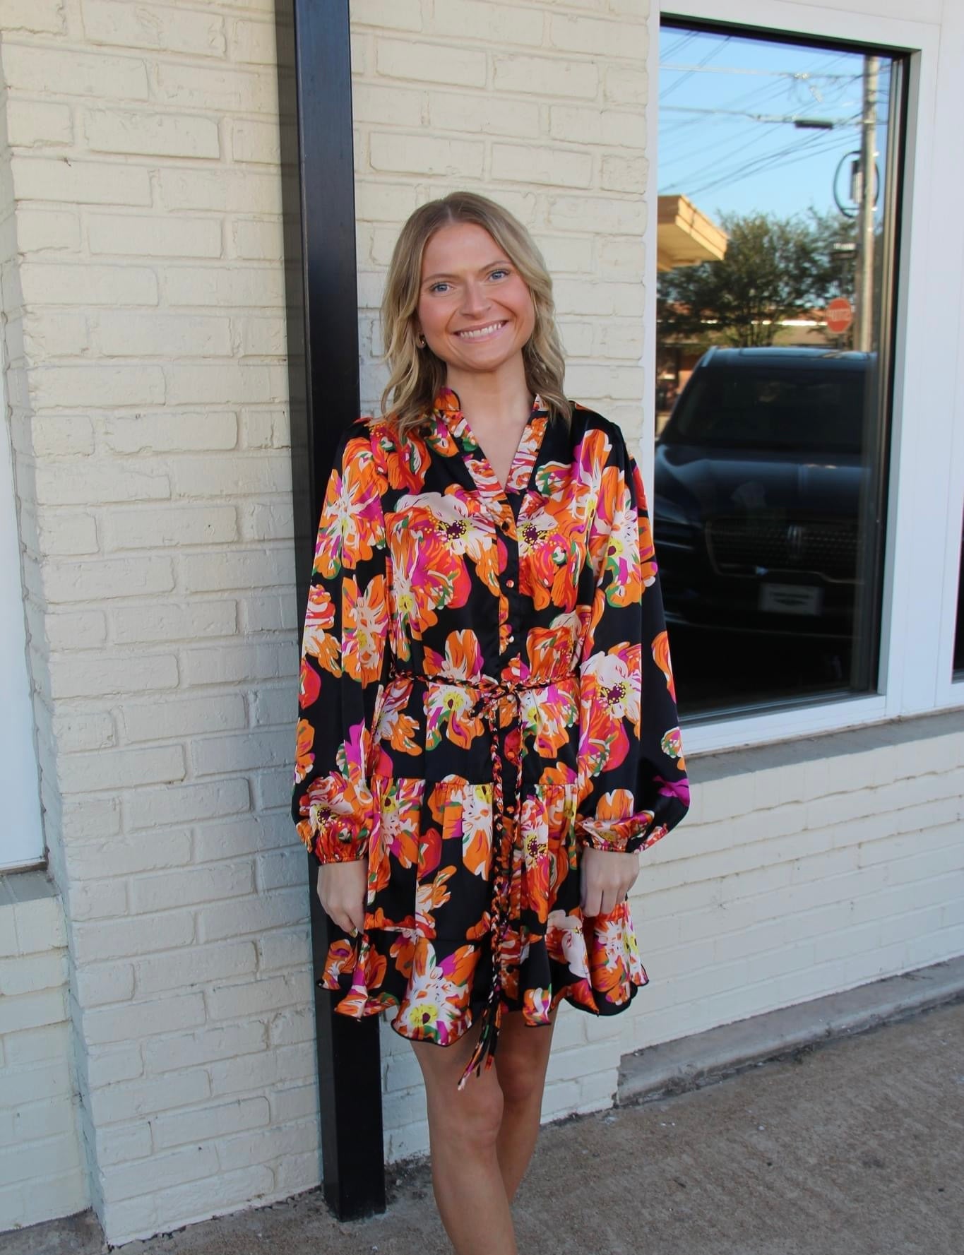
[[[318,532],[314,572],[326,580],[370,558],[384,542],[380,483],[367,437],[348,442],[343,466],[344,473],[335,471],[328,482]]]

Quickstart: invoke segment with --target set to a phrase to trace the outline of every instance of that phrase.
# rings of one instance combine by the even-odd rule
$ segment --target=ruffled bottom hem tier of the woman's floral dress
[[[550,1023],[562,1001],[595,1015],[616,1015],[649,984],[628,904],[591,922],[554,911],[545,936],[521,948],[502,991],[502,1012],[522,1012],[532,1027]],[[319,986],[341,993],[341,1015],[362,1019],[394,1010],[399,1037],[451,1045],[485,1009],[492,984],[488,937],[446,944],[417,929],[370,929],[331,943]]]

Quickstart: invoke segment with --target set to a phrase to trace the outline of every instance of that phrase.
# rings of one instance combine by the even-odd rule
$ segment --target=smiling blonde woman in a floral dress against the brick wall
[[[344,934],[324,984],[395,1013],[446,1229],[506,1255],[557,1005],[646,983],[626,895],[689,792],[643,483],[566,400],[525,227],[423,205],[383,330],[387,413],[345,433],[321,515],[292,813]]]

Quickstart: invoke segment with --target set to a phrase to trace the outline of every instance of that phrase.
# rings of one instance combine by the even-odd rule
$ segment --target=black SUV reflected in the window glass
[[[710,349],[656,441],[670,624],[849,638],[875,356]]]

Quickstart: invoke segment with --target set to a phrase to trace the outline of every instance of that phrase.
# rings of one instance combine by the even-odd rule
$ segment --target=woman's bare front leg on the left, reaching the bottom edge
[[[458,1089],[477,1038],[476,1027],[452,1045],[412,1043],[426,1081],[432,1185],[456,1255],[517,1255],[496,1155],[502,1123],[496,1071],[472,1074]]]

